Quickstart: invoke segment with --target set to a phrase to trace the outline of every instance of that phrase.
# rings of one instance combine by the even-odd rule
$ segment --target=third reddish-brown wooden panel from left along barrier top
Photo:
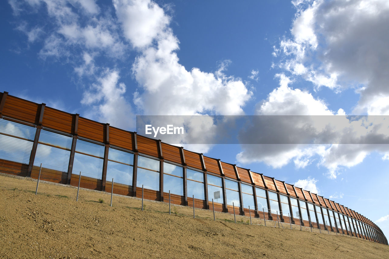
[[[104,143],[105,124],[79,117],[77,132],[80,137]]]

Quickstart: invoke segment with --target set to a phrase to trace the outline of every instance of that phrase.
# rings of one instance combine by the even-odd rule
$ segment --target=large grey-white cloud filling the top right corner
[[[389,112],[389,2],[386,0],[292,1],[292,38],[275,47],[279,67],[316,87],[360,93],[356,114]]]

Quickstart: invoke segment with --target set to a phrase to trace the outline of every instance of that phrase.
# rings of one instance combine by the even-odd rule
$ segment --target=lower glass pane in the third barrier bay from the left
[[[80,171],[83,176],[102,179],[103,159],[75,153],[72,173],[78,175]]]

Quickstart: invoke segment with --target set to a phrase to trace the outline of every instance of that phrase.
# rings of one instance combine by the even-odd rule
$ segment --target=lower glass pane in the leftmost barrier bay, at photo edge
[[[0,158],[28,165],[33,142],[0,134]]]

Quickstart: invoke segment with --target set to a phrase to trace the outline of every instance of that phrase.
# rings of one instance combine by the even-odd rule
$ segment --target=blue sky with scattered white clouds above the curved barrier
[[[237,144],[203,144],[218,125],[182,122],[202,144],[180,145],[335,200],[389,234],[387,0],[8,0],[0,14],[0,91],[13,96],[130,131],[136,115],[340,118],[259,134],[285,144],[247,144],[255,125]]]

